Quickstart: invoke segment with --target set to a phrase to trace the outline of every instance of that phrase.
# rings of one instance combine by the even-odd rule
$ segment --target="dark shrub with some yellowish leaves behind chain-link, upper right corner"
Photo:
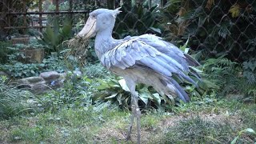
[[[202,59],[226,55],[244,62],[256,54],[256,3],[252,1],[170,0],[162,10],[166,38],[186,42],[192,50],[202,50]]]

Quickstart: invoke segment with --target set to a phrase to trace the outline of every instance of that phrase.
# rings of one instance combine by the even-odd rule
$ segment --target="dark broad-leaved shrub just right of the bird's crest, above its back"
[[[122,6],[122,13],[118,14],[114,36],[124,38],[127,35],[161,34],[158,23],[158,6],[148,8],[142,3]]]

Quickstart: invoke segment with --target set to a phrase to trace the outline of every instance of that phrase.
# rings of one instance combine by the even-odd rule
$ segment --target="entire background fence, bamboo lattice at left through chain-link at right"
[[[243,62],[256,55],[256,0],[1,0],[0,33],[32,34],[66,18],[77,33],[91,10],[119,6],[114,38],[150,33],[177,46],[188,40],[202,59],[225,55]]]

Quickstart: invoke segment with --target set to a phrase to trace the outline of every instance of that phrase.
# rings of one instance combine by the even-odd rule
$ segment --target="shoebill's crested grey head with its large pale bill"
[[[93,38],[98,32],[103,30],[113,30],[117,15],[121,12],[121,7],[115,10],[97,9],[90,13],[86,25],[78,33],[79,37]]]

